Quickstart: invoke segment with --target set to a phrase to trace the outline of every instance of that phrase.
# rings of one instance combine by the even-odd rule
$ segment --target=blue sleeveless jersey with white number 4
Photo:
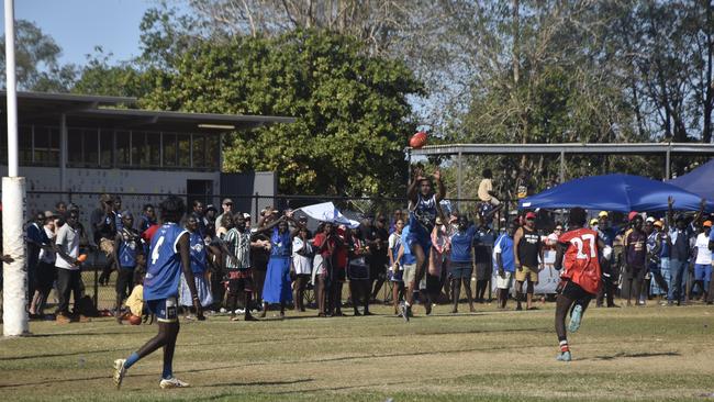
[[[159,300],[178,297],[181,278],[181,256],[178,253],[178,239],[183,227],[164,224],[152,237],[144,279],[144,300]]]

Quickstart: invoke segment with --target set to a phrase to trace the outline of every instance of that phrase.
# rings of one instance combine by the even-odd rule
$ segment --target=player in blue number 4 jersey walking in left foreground
[[[186,276],[197,317],[205,320],[191,271],[189,233],[178,224],[186,212],[183,200],[169,196],[161,202],[160,209],[163,225],[152,237],[144,279],[144,301],[158,320],[158,334],[126,359],[114,360],[114,383],[118,389],[126,370],[160,347],[164,348],[164,371],[159,387],[167,389],[189,386],[174,377],[172,369],[174,349],[179,333],[177,297],[181,271]]]

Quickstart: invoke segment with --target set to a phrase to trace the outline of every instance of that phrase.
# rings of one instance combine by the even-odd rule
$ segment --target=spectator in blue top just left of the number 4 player
[[[134,272],[136,267],[145,264],[142,238],[134,228],[134,216],[129,211],[124,211],[122,214],[122,230],[116,233],[113,252],[113,258],[116,261],[116,311],[114,317],[121,324],[122,304],[134,289]]]

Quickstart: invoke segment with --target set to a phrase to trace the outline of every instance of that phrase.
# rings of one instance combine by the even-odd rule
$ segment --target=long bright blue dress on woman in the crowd
[[[265,284],[263,286],[263,301],[266,303],[280,303],[292,301],[292,289],[290,288],[290,253],[292,242],[290,233],[278,233],[272,230],[270,237],[270,260],[266,272]]]

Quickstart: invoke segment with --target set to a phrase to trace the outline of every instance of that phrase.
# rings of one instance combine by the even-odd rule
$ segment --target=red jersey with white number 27
[[[602,283],[598,260],[598,232],[578,228],[564,233],[558,242],[568,247],[560,276],[579,284],[588,293],[596,294]]]

